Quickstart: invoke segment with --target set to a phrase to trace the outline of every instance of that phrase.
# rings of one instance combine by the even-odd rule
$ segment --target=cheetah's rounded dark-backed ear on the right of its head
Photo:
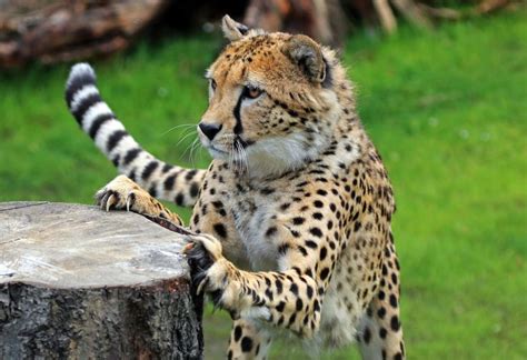
[[[326,62],[320,46],[311,38],[302,34],[292,36],[287,40],[282,51],[300,67],[310,81],[324,82],[326,79]]]

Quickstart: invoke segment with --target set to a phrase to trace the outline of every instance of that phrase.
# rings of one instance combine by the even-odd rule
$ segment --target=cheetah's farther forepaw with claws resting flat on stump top
[[[133,211],[147,217],[167,219],[178,226],[183,224],[178,214],[171,212],[126,176],[118,176],[97,191],[96,202],[106,211]]]

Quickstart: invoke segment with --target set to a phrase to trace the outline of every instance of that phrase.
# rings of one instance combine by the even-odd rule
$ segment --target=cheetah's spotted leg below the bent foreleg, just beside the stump
[[[249,319],[238,319],[232,323],[227,359],[267,359],[270,344],[268,331],[259,329]]]

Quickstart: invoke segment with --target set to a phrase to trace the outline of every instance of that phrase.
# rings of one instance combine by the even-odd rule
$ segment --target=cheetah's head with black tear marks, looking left
[[[227,17],[223,31],[233,41],[206,73],[201,143],[251,178],[301,167],[322,151],[337,118],[324,49],[308,37],[248,30]]]

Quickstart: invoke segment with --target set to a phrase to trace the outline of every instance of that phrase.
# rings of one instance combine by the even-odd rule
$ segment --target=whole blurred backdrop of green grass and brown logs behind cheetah
[[[395,187],[409,358],[527,359],[524,2],[0,0],[0,201],[92,203],[116,176],[66,109],[80,60],[145,149],[206,167],[183,124],[207,107],[203,72],[225,44],[225,13],[339,49]],[[206,354],[219,359],[230,321],[211,312]],[[306,358],[279,338],[271,359]]]

